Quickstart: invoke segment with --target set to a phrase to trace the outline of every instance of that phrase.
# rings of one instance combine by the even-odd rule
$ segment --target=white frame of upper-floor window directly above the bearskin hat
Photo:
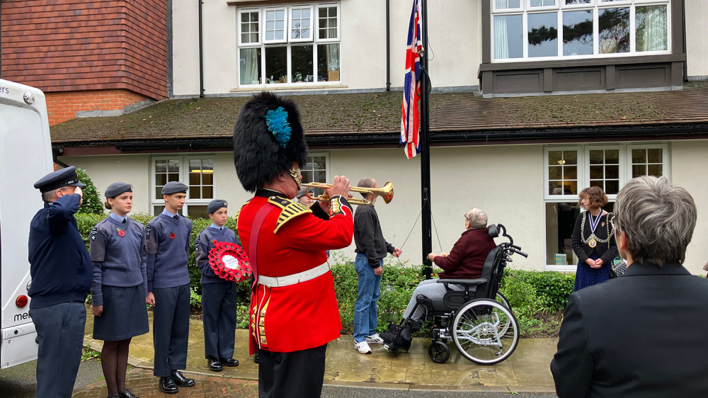
[[[290,19],[292,16],[292,10],[295,8],[309,8],[310,9],[310,38],[307,39],[291,39],[291,26],[290,26]],[[320,39],[319,38],[319,10],[321,8],[336,8],[336,38],[326,38],[326,39]],[[273,10],[284,10],[285,11],[285,40],[266,40],[265,39],[265,20],[264,16],[267,11],[273,11]],[[258,18],[258,28],[259,28],[259,35],[258,38],[260,41],[258,43],[253,42],[253,43],[244,43],[241,42],[241,13],[249,13],[249,12],[256,12],[258,11],[259,13],[259,18]],[[287,87],[288,89],[295,89],[295,88],[303,88],[307,89],[308,87],[312,86],[322,86],[322,85],[339,85],[341,84],[342,81],[342,75],[341,75],[341,4],[340,3],[332,3],[330,2],[323,2],[323,3],[317,3],[317,2],[312,2],[310,4],[293,4],[293,5],[285,5],[285,6],[263,6],[261,8],[253,8],[253,6],[249,7],[244,7],[244,8],[239,8],[238,13],[237,13],[237,26],[236,26],[236,35],[238,36],[238,45],[236,48],[236,76],[237,76],[237,81],[238,85],[237,87],[239,88],[244,88],[244,89],[272,89],[272,88],[284,88]],[[317,70],[317,67],[319,65],[318,60],[319,60],[319,54],[318,54],[318,46],[319,45],[332,45],[332,44],[337,44],[339,45],[339,74],[338,74],[338,80],[333,80],[333,81],[320,81],[319,78],[320,76],[326,76],[329,79],[329,71],[325,69],[324,71],[319,71]],[[312,45],[312,75],[307,75],[304,76],[304,81],[292,81],[292,47],[296,46],[301,46],[301,45]],[[268,48],[275,48],[275,47],[286,47],[286,63],[287,63],[287,68],[286,68],[286,76],[287,80],[280,83],[278,82],[278,79],[274,79],[273,81],[275,82],[270,82],[268,81],[268,76],[266,76],[266,52]],[[261,67],[258,70],[258,84],[241,84],[241,50],[245,49],[260,49],[261,50],[261,56],[259,61],[261,62]],[[312,81],[308,81],[307,77],[310,76],[312,77]],[[255,80],[253,80],[255,81]]]

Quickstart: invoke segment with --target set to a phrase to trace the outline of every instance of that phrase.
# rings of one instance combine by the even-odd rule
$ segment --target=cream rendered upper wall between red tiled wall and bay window
[[[391,84],[402,87],[412,1],[390,1]],[[237,7],[203,0],[202,45],[205,95],[238,88]],[[343,89],[386,87],[386,2],[341,0]],[[429,1],[430,79],[436,87],[477,86],[481,62],[479,0]],[[198,2],[174,0],[173,95],[199,95]]]

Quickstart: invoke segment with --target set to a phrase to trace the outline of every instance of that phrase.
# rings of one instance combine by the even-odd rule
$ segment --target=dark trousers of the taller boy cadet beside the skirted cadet
[[[152,343],[155,348],[153,375],[169,376],[187,368],[189,338],[189,283],[174,288],[154,288]]]

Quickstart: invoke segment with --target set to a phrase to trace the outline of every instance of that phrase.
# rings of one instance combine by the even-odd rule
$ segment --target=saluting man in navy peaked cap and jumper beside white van
[[[81,363],[91,258],[74,214],[84,193],[76,168],[47,174],[35,183],[44,207],[30,223],[30,316],[37,330],[36,397],[71,397]]]

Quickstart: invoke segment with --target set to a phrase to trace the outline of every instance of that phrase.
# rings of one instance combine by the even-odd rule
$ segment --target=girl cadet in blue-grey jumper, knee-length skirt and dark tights
[[[98,222],[89,235],[93,339],[103,340],[101,368],[108,398],[137,398],[125,388],[125,370],[130,339],[150,330],[145,307],[145,228],[127,218],[132,210],[130,184],[110,184],[105,199],[110,215]]]

